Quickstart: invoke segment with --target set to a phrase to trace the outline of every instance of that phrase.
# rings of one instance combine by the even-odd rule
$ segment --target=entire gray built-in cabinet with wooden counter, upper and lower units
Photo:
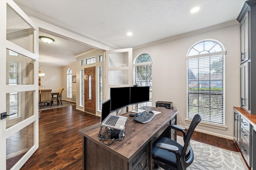
[[[256,169],[256,0],[244,3],[240,23],[240,107],[234,107],[234,142]]]

